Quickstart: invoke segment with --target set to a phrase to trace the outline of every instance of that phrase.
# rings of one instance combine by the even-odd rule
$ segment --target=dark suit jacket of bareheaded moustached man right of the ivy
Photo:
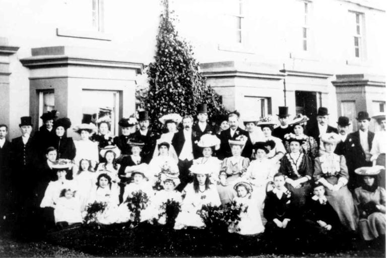
[[[217,152],[217,156],[219,159],[223,160],[224,158],[231,157],[231,148],[228,143],[228,140],[235,140],[238,136],[244,135],[247,137],[247,142],[243,148],[242,155],[245,158],[251,158],[251,153],[252,153],[252,143],[250,140],[250,136],[247,131],[244,131],[240,127],[238,127],[235,131],[235,134],[233,137],[231,137],[230,134],[231,129],[228,128],[225,131],[222,131],[220,133],[220,149]]]

